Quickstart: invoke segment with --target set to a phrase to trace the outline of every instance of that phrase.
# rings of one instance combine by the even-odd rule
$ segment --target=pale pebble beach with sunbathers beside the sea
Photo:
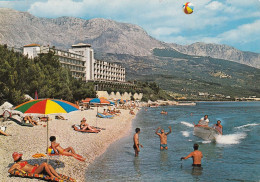
[[[76,111],[63,116],[68,120],[56,120],[55,115],[50,115],[52,119],[49,121],[49,137],[54,135],[57,138],[57,143],[63,148],[73,147],[76,153],[87,158],[85,162],[80,162],[73,157],[67,156],[52,156],[48,157],[51,165],[56,168],[58,173],[70,176],[77,181],[85,181],[85,171],[93,161],[102,155],[107,148],[126,136],[131,128],[132,121],[136,115],[130,115],[129,110],[121,110],[120,116],[115,116],[113,119],[104,119],[96,117],[96,109],[85,111]],[[135,110],[136,114],[138,110]],[[87,123],[92,126],[105,128],[101,132],[81,133],[74,131],[71,127],[73,124],[79,124],[80,120],[85,117]],[[3,125],[7,126],[7,133],[12,136],[0,136],[0,178],[10,182],[26,182],[39,181],[38,179],[9,177],[8,169],[13,164],[12,153],[23,153],[23,160],[29,160],[30,163],[45,162],[47,157],[43,159],[34,159],[33,154],[46,151],[47,129],[43,127],[46,123],[34,127],[24,127],[17,125],[12,121],[6,121]],[[48,142],[50,145],[50,142]],[[59,162],[57,162],[59,161]]]

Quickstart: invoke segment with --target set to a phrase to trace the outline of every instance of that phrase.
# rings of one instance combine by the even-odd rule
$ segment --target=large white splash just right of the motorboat
[[[220,135],[216,137],[216,142],[219,144],[239,144],[242,139],[246,137],[246,133],[235,133],[230,135]]]

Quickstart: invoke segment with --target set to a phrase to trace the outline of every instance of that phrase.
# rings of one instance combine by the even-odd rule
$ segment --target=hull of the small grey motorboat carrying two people
[[[193,135],[202,138],[203,140],[215,141],[216,137],[221,134],[215,128],[203,125],[194,125]]]

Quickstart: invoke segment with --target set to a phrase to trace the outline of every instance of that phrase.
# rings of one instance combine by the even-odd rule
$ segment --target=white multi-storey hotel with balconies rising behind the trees
[[[75,78],[86,82],[125,82],[125,68],[119,64],[95,60],[90,44],[72,45],[68,51],[38,44],[23,47],[23,54],[28,55],[29,58],[35,58],[39,54],[46,54],[49,51],[55,52],[61,65],[68,68]]]

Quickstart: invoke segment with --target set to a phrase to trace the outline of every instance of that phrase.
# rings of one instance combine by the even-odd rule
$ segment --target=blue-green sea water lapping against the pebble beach
[[[112,144],[86,170],[86,181],[259,181],[260,102],[199,102],[196,106],[142,108],[131,134]],[[166,110],[168,115],[161,115]],[[193,136],[193,122],[209,115],[210,125],[221,120],[223,136],[216,142]],[[168,132],[166,151],[160,151],[157,127]],[[141,148],[134,157],[136,127]],[[98,136],[97,136],[98,137]],[[203,168],[193,168],[192,159],[181,161],[199,144]]]

